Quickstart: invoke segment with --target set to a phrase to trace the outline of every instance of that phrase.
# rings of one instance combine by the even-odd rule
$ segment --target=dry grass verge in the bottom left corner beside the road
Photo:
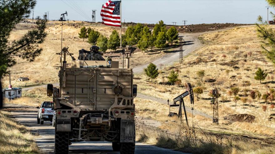
[[[0,111],[0,153],[39,153],[33,136],[27,129],[5,114],[8,112]]]

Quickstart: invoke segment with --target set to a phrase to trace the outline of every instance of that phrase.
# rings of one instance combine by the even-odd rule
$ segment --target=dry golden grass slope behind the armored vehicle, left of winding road
[[[26,85],[33,85],[37,83],[54,83],[58,82],[59,68],[53,66],[59,66],[60,56],[56,53],[61,49],[61,21],[49,21],[46,28],[47,37],[43,44],[39,47],[43,49],[39,57],[35,58],[34,62],[28,62],[17,58],[17,65],[11,69],[11,80],[14,87],[22,87]],[[98,30],[102,35],[109,37],[113,30],[119,31],[119,28],[111,26],[103,26],[102,24],[91,24],[82,21],[66,21],[63,22],[63,47],[68,46],[69,52],[73,53],[74,57],[78,57],[78,50],[90,49],[91,44],[88,43],[88,39],[78,38],[78,33],[81,27],[90,27],[94,30]],[[77,27],[72,26],[78,25]],[[28,30],[14,30],[11,32],[9,40],[17,40],[22,37]],[[149,63],[153,59],[159,58],[165,54],[169,54],[172,49],[167,49],[166,52],[159,52],[159,49],[153,49],[153,51],[146,51],[145,55],[142,52],[135,52],[131,57],[131,68],[140,64]],[[107,50],[110,52],[110,50]],[[104,56],[103,56],[104,57]],[[119,61],[119,65],[122,68],[123,56],[113,58],[115,61]],[[126,59],[124,59],[126,61]],[[67,57],[67,63],[71,63],[71,58]],[[125,65],[126,62],[124,62]],[[18,77],[28,77],[30,80],[25,82],[17,82]],[[8,76],[2,80],[3,87],[7,87],[9,84]]]

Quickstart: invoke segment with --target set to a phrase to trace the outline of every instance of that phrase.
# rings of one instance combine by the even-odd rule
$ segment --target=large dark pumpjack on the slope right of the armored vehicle
[[[178,109],[178,118],[180,118],[181,121],[182,121],[182,115],[183,115],[182,106],[183,106],[186,124],[188,125],[186,109],[185,109],[185,105],[184,105],[184,101],[183,101],[183,98],[186,97],[187,95],[189,95],[189,97],[190,97],[191,110],[192,110],[192,119],[193,119],[194,94],[193,94],[193,88],[191,86],[191,83],[187,83],[187,89],[186,89],[186,91],[183,94],[181,94],[181,95],[179,95],[179,96],[177,96],[176,98],[173,99],[173,101],[174,101],[173,105],[169,105],[169,116],[173,116],[170,113],[170,107],[179,106],[179,109]],[[179,101],[179,104],[176,104],[178,101]]]

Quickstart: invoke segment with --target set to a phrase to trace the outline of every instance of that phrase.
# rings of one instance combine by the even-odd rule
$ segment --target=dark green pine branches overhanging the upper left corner
[[[36,0],[17,0],[0,2],[0,78],[7,74],[7,68],[18,61],[17,58],[33,61],[42,52],[39,44],[47,36],[47,20],[36,18],[36,27],[21,38],[9,41],[11,31],[22,20],[28,18],[36,5]]]

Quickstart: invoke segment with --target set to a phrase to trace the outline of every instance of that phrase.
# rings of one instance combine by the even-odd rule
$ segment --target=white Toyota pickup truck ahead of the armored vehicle
[[[44,121],[53,121],[53,114],[55,110],[53,109],[53,102],[45,101],[42,102],[40,106],[36,107],[39,109],[37,111],[37,124],[44,124]]]

